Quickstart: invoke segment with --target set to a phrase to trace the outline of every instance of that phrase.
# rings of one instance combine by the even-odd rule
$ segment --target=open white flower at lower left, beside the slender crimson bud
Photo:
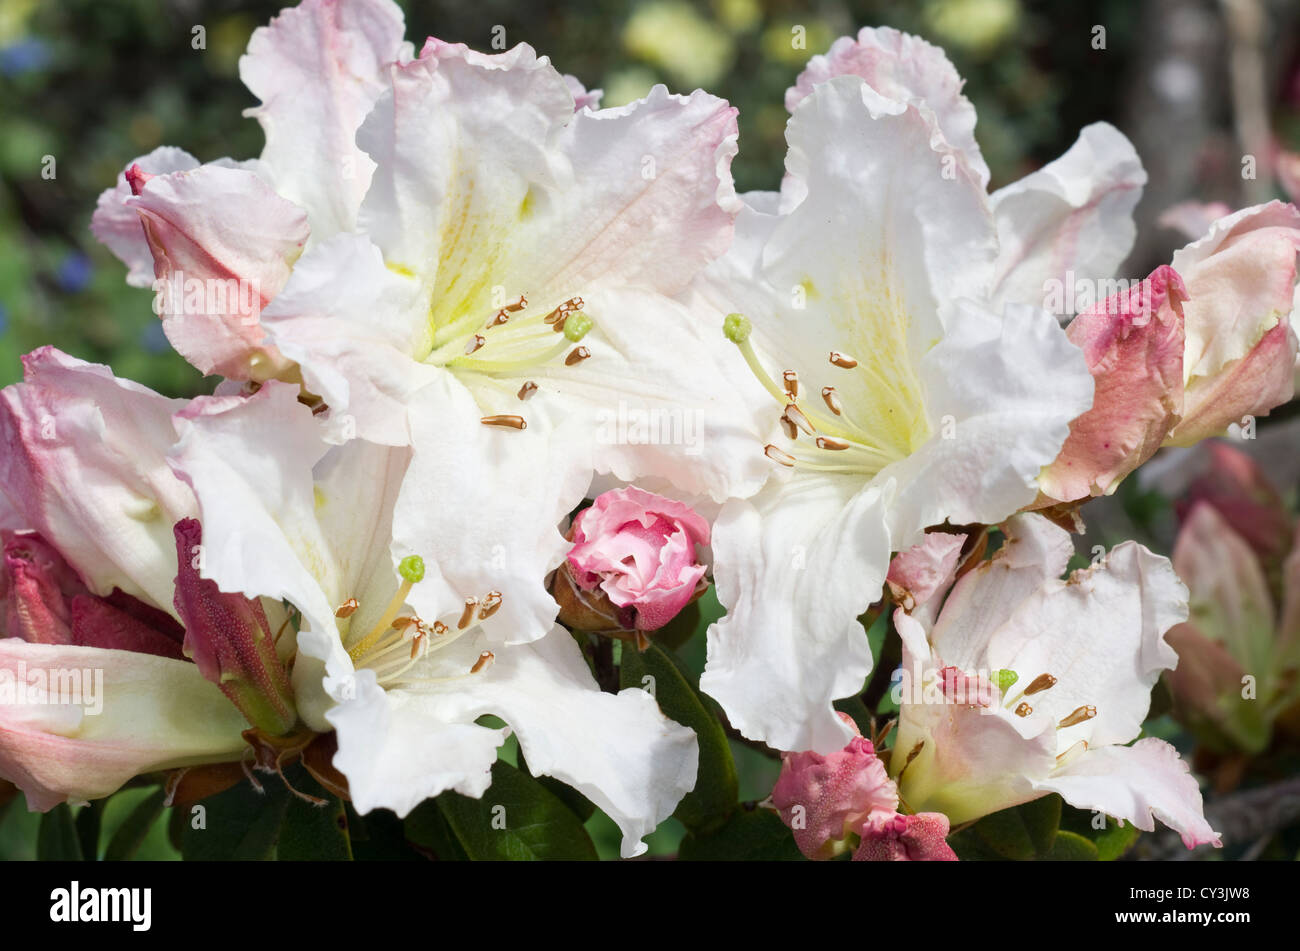
[[[199,500],[205,574],[222,590],[300,612],[299,715],[337,730],[334,765],[358,809],[406,815],[448,789],[482,795],[508,733],[476,724],[493,713],[533,772],[572,785],[619,824],[625,856],[645,850],[641,838],[694,786],[694,734],[642,690],[602,692],[563,628],[547,621],[545,637],[519,637],[520,625],[542,618],[523,615],[508,586],[458,585],[503,569],[459,537],[424,534],[428,508],[458,505],[410,464],[410,448],[361,439],[330,447],[298,388],[278,382],[250,398],[200,398],[177,427],[173,466]],[[520,504],[551,492],[558,472],[521,482]],[[481,477],[491,481],[493,470]],[[439,551],[413,548],[421,539]],[[567,547],[554,524],[537,544],[550,568]],[[429,557],[442,548],[484,561],[448,577]]]

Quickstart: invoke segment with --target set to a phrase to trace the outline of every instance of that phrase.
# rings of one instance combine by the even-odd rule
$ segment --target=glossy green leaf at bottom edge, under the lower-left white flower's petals
[[[537,780],[497,760],[482,799],[443,792],[438,807],[473,860],[595,860],[577,816]]]

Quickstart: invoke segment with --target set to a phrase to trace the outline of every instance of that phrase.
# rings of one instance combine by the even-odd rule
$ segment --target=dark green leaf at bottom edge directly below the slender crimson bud
[[[181,855],[186,861],[261,861],[276,857],[290,792],[278,776],[208,796],[182,809]]]

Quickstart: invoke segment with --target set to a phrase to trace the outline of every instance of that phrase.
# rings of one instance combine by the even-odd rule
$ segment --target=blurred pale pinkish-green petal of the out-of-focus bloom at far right
[[[1187,583],[1197,629],[1223,643],[1269,696],[1282,673],[1273,656],[1274,603],[1251,546],[1213,505],[1200,503],[1178,533],[1174,568]]]

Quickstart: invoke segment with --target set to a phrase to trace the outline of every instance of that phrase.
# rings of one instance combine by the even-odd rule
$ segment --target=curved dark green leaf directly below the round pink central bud
[[[673,817],[686,829],[708,831],[727,821],[740,798],[736,763],[718,717],[677,666],[672,655],[655,644],[644,653],[623,652],[619,669],[621,687],[649,690],[670,720],[694,730],[699,739],[699,772],[696,787],[677,804]]]

